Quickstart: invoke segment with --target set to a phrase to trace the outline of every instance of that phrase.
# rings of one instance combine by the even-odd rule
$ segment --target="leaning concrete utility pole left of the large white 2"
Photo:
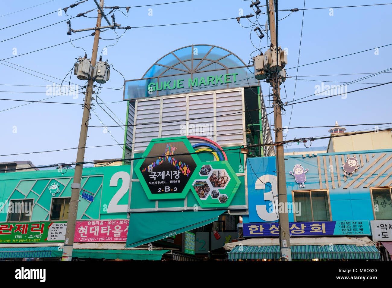
[[[100,0],[100,7],[103,8],[103,0]],[[98,9],[98,18],[96,27],[101,27],[102,14],[101,9]],[[95,66],[97,60],[97,52],[98,52],[98,42],[99,42],[99,34],[100,29],[95,30],[94,36],[94,44],[93,44],[93,53],[91,54],[91,65]],[[76,216],[78,215],[78,203],[79,203],[79,193],[80,193],[80,182],[82,179],[83,172],[83,163],[84,161],[84,152],[87,140],[87,125],[90,118],[90,109],[91,109],[91,97],[93,94],[93,75],[88,80],[86,97],[84,101],[84,109],[83,109],[83,118],[82,118],[82,126],[80,127],[80,136],[79,136],[79,145],[78,145],[78,154],[76,156],[76,166],[75,166],[75,174],[72,184],[72,194],[71,201],[69,203],[69,213],[67,220],[67,231],[65,233],[65,241],[64,241],[64,250],[63,256],[68,256],[68,261],[72,260],[72,250],[73,250],[73,241],[75,237],[75,225],[76,225]],[[65,258],[66,259],[66,258]]]

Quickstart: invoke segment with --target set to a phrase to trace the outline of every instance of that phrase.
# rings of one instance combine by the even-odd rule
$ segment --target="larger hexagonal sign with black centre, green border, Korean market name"
[[[188,139],[152,139],[142,157],[134,170],[150,200],[185,198],[200,167]]]

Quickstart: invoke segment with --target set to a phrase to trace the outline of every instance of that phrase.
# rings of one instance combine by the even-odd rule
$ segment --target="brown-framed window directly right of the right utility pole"
[[[327,190],[293,191],[294,221],[331,221]]]

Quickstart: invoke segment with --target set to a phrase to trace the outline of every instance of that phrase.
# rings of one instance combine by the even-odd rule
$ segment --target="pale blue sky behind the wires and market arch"
[[[31,9],[26,9],[17,13],[15,11],[31,7],[42,1],[9,1],[4,4],[0,14],[0,29],[13,25],[36,16],[61,9],[73,4],[64,0],[53,0],[49,3],[38,5]],[[132,6],[157,4],[166,1],[134,1],[134,0],[107,0],[105,6]],[[171,2],[171,1],[168,1]],[[263,3],[263,1],[261,1]],[[377,4],[386,3],[377,1]],[[243,14],[253,13],[249,7],[250,2],[242,0],[232,1],[207,1],[194,0],[183,3],[157,5],[149,7],[134,7],[129,11],[129,16],[125,17],[121,12],[116,12],[116,22],[124,26],[139,27],[147,25],[173,24],[182,22],[196,22],[204,20],[216,20],[223,18],[238,17],[240,9]],[[313,7],[334,7],[348,5],[366,5],[367,1],[306,1],[305,8]],[[372,3],[376,4],[376,3]],[[74,8],[69,8],[68,15],[76,16],[96,6],[93,0],[89,0]],[[149,9],[152,9],[152,16],[149,16]],[[279,1],[278,9],[303,8],[303,1]],[[317,76],[327,74],[350,74],[350,73],[373,73],[392,68],[391,51],[392,45],[380,48],[378,54],[374,48],[392,43],[389,36],[391,26],[392,5],[335,8],[333,15],[329,9],[305,10],[303,19],[303,31],[301,40],[301,53],[299,65],[317,62],[328,58],[334,58],[358,51],[373,49],[364,53],[359,53],[335,60],[325,61],[312,65],[299,67],[298,79],[295,80],[296,67],[298,62],[299,42],[301,35],[301,23],[303,11],[292,13],[287,18],[279,21],[278,44],[282,48],[288,49],[287,74],[294,79],[287,79],[285,86],[281,86],[281,98],[283,101],[292,101],[295,89],[295,99],[302,98],[315,93],[316,85],[341,84],[336,82],[350,82],[363,75],[340,75],[340,76]],[[125,9],[121,9],[125,14]],[[264,12],[265,7],[261,7]],[[106,12],[110,10],[105,10]],[[12,14],[9,14],[12,13]],[[6,15],[9,14],[9,15]],[[151,13],[150,13],[151,14]],[[279,11],[279,18],[287,16],[289,12]],[[96,11],[86,14],[89,17],[96,17]],[[23,34],[46,25],[50,25],[69,17],[62,11],[62,15],[52,13],[47,16],[0,30],[0,41]],[[255,21],[256,17],[249,20]],[[109,19],[111,19],[109,17]],[[261,25],[267,20],[266,14],[261,14],[258,21]],[[73,29],[83,29],[94,27],[94,18],[74,18],[71,20]],[[105,22],[103,21],[102,24]],[[251,25],[246,19],[241,19],[243,26]],[[117,30],[123,33],[124,30]],[[15,39],[0,42],[1,59],[17,56],[37,49],[42,49],[51,45],[69,41],[66,34],[67,25],[65,21],[38,31],[25,34]],[[89,32],[79,32],[71,35],[71,39],[80,38],[91,34]],[[119,34],[119,35],[121,35]],[[103,39],[116,38],[114,31],[109,30],[101,34]],[[174,25],[166,27],[134,28],[127,31],[118,43],[112,47],[107,47],[107,55],[103,55],[104,60],[112,63],[114,68],[120,71],[125,79],[141,78],[145,71],[163,55],[183,46],[193,44],[213,44],[224,47],[239,56],[245,63],[248,63],[250,53],[256,48],[253,47],[250,39],[256,48],[267,46],[267,37],[261,40],[251,28],[243,28],[234,20],[207,22],[199,24]],[[113,45],[116,40],[100,40],[98,53],[106,46]],[[88,58],[91,58],[93,37],[86,37],[73,41],[78,47],[83,47]],[[266,49],[262,49],[265,51]],[[15,54],[16,53],[16,54]],[[253,56],[255,54],[252,54]],[[35,53],[17,56],[5,61],[20,65],[55,78],[63,79],[67,72],[73,67],[74,58],[84,56],[80,48],[75,48],[71,43],[65,43],[56,47],[38,51]],[[1,61],[10,66],[9,63]],[[24,92],[0,92],[0,98],[42,100],[50,96],[46,95],[46,85],[60,83],[61,80],[44,76],[26,69],[18,69],[35,74],[40,79],[32,75],[20,72],[5,65],[1,65],[2,78],[0,80],[0,91],[24,91]],[[372,78],[360,81],[347,86],[347,91],[372,86],[370,83],[389,82],[392,73],[383,73]],[[67,83],[69,75],[66,78]],[[316,80],[316,81],[309,81]],[[71,82],[83,85],[84,82],[71,75]],[[4,85],[7,84],[7,85]],[[13,86],[15,85],[15,86]],[[37,86],[17,86],[17,85],[37,85]],[[102,84],[102,87],[120,88],[123,85],[123,78],[116,71],[111,71],[109,82]],[[359,124],[359,123],[383,123],[391,122],[390,118],[390,85],[383,85],[372,89],[347,94],[347,98],[341,96],[328,98],[325,100],[311,101],[297,105],[287,106],[286,114],[283,115],[283,126],[288,126],[290,112],[292,117],[290,127],[298,126],[318,126],[339,124]],[[262,83],[263,94],[269,94],[269,85]],[[33,93],[35,92],[35,93]],[[99,98],[104,102],[121,101],[123,90],[102,89]],[[74,99],[73,95],[63,95],[51,98],[47,101],[82,103],[83,95]],[[316,98],[311,96],[307,99]],[[268,105],[268,97],[265,101]],[[0,100],[0,110],[9,109],[24,102]],[[114,114],[125,123],[126,102],[107,104]],[[107,109],[103,108],[113,116]],[[94,112],[105,125],[116,125],[108,114],[99,105],[95,105]],[[272,118],[270,118],[272,120]],[[0,112],[1,140],[0,155],[17,154],[23,152],[46,151],[55,149],[67,149],[77,147],[80,124],[82,120],[82,107],[79,105],[60,105],[32,103],[15,109]],[[92,113],[89,125],[101,126],[102,123],[97,116]],[[272,121],[273,122],[273,121]],[[388,125],[390,126],[390,125]],[[380,126],[381,128],[381,126]],[[347,131],[353,130],[373,130],[374,125],[347,127]],[[120,127],[109,128],[110,133],[120,144],[123,143],[124,130]],[[290,129],[287,139],[313,137],[327,135],[328,128]],[[102,128],[89,128],[87,146],[111,145],[116,141],[109,133],[103,133]],[[313,146],[327,146],[328,139],[314,141]],[[294,143],[290,148],[294,148]],[[303,145],[302,143],[299,145]],[[309,145],[309,143],[308,143]],[[303,146],[301,146],[303,147]],[[89,148],[85,152],[85,160],[121,158],[122,146],[109,146],[100,148]],[[71,163],[76,159],[76,149],[59,152],[48,152],[39,154],[0,156],[0,162],[5,161],[26,161],[30,160],[34,165],[47,165],[53,163]]]

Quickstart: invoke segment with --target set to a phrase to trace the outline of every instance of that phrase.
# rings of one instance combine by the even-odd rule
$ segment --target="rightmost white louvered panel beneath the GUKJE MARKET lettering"
[[[245,143],[243,110],[242,95],[238,91],[216,93],[216,142],[219,145]]]

